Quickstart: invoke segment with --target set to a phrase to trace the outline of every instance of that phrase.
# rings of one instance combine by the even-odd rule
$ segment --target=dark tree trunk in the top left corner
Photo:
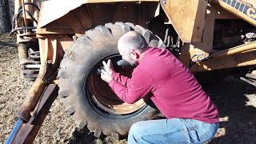
[[[0,34],[10,32],[9,1],[0,0]]]

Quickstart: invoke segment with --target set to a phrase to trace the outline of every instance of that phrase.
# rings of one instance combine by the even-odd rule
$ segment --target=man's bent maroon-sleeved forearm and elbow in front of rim
[[[109,86],[122,101],[130,104],[143,98],[154,87],[150,76],[141,70],[135,70],[130,80],[126,79],[126,82],[127,81],[129,81],[129,84],[124,86],[122,83],[112,79],[109,82]]]

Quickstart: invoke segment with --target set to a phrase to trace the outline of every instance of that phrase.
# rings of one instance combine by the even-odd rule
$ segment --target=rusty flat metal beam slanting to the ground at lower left
[[[23,123],[18,134],[12,138],[11,143],[33,143],[34,138],[38,134],[38,130],[42,126],[42,122],[49,113],[50,106],[58,96],[58,86],[50,84],[44,90],[41,101],[38,102],[36,114],[30,118],[27,123]]]

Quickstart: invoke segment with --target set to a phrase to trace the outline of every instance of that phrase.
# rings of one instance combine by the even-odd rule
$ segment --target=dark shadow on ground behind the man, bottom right
[[[220,116],[218,133],[209,143],[256,143],[256,88],[228,76],[206,92]]]

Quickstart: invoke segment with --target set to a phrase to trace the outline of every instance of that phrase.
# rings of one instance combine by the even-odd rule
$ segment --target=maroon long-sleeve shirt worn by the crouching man
[[[114,72],[109,86],[124,102],[151,100],[166,118],[218,122],[218,110],[193,74],[168,50],[149,48],[131,78]]]

